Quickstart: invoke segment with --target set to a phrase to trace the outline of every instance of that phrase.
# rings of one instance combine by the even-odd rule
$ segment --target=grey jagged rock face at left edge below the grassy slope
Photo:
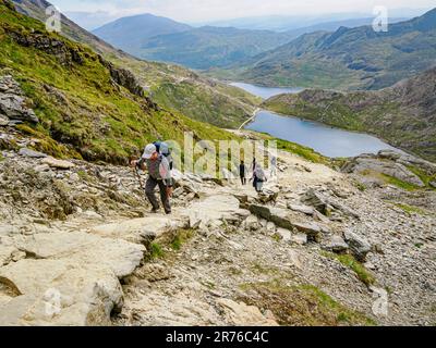
[[[35,112],[26,107],[23,91],[10,75],[0,76],[0,126],[10,121],[39,122]]]

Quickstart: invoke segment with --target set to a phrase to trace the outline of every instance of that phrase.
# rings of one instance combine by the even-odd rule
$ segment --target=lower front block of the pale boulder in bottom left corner
[[[16,290],[0,306],[0,325],[110,325],[123,303],[117,276],[98,264],[26,259],[0,268],[0,279]]]

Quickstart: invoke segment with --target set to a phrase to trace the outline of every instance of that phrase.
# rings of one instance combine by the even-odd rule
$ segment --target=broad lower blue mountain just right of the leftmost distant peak
[[[96,33],[98,34],[98,33]],[[189,32],[144,39],[126,49],[143,59],[207,70],[225,66],[277,48],[293,38],[291,34],[205,26]],[[114,44],[112,40],[108,40]]]

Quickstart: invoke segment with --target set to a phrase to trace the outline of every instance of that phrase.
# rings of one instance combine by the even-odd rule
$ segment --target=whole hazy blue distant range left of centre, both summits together
[[[137,58],[197,70],[229,65],[293,38],[290,33],[271,30],[214,26],[193,28],[150,14],[120,18],[93,33]]]

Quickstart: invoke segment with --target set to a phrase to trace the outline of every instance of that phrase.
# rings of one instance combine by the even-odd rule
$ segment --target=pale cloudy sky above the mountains
[[[372,13],[388,9],[429,9],[435,0],[51,0],[62,12],[109,12],[114,16],[153,13],[184,22],[206,22],[257,15]]]

